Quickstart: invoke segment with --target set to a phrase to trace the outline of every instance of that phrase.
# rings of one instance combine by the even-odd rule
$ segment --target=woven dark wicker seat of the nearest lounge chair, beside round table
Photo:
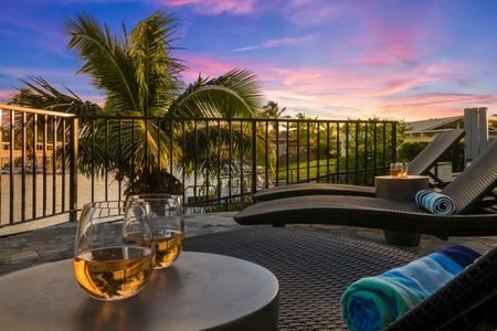
[[[347,330],[339,305],[347,287],[419,257],[328,232],[267,226],[189,237],[184,249],[229,255],[271,270],[279,282],[279,330]]]

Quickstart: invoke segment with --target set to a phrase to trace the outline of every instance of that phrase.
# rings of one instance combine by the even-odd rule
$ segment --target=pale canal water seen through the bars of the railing
[[[245,180],[248,177],[245,174]],[[24,180],[23,180],[24,179]],[[0,236],[6,227],[15,226],[14,224],[60,224],[70,218],[70,175],[61,173],[27,173],[22,174],[1,174],[0,175]],[[258,184],[263,179],[257,177]],[[216,183],[212,180],[211,183]],[[184,194],[188,197],[215,196],[216,189],[209,185],[205,190],[203,178],[187,179],[184,183]],[[221,196],[236,195],[242,192],[247,182],[242,183],[236,174],[232,179],[221,178]],[[197,189],[195,189],[197,188]],[[262,188],[262,184],[261,186]],[[116,201],[124,200],[124,189],[119,189],[119,183],[112,177],[87,178],[80,174],[77,177],[77,210],[81,210],[85,203],[92,201]],[[201,201],[201,200],[200,200]],[[188,213],[203,213],[203,207],[192,207]],[[24,214],[23,214],[24,213]],[[53,216],[54,215],[54,216]],[[43,218],[39,221],[38,218]],[[34,222],[25,222],[32,221]],[[30,225],[31,226],[31,225]],[[36,225],[32,226],[33,228]],[[31,229],[31,228],[30,228]]]

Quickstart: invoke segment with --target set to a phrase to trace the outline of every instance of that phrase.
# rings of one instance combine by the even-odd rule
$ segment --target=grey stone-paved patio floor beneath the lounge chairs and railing
[[[235,212],[186,215],[186,236],[198,236],[242,227],[233,221],[234,214]],[[292,226],[308,227],[310,231],[330,231],[388,245],[381,229],[338,225]],[[0,276],[47,261],[72,258],[74,256],[75,233],[76,223],[68,222],[7,236],[0,229]],[[448,241],[442,241],[431,235],[423,235],[420,246],[395,247],[427,255],[444,246],[461,244],[484,253],[495,246],[496,243],[497,236],[451,237]]]

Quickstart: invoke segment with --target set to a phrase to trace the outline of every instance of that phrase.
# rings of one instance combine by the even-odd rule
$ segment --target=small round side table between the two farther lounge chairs
[[[391,175],[378,175],[374,178],[377,197],[413,201],[417,191],[427,190],[430,178],[427,175],[408,175],[404,178],[393,178]],[[383,229],[387,243],[402,246],[420,245],[421,234]]]

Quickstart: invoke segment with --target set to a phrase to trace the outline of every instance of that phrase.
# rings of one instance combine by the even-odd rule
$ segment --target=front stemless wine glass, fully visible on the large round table
[[[138,293],[154,271],[150,210],[140,201],[93,202],[83,206],[74,248],[74,275],[94,299]]]

